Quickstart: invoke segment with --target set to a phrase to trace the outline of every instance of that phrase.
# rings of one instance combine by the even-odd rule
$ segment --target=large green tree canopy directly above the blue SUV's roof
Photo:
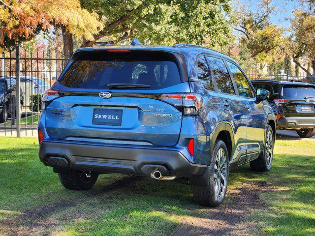
[[[136,37],[150,44],[179,42],[226,45],[230,35],[230,0],[81,0],[81,6],[99,15],[104,27],[94,40],[119,43]]]

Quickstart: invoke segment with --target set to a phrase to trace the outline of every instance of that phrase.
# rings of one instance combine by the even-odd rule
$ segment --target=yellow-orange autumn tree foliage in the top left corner
[[[93,40],[102,24],[79,0],[0,0],[0,47],[10,48],[53,28],[61,28],[64,44],[72,44],[72,36]],[[65,57],[73,53],[73,45],[67,48]]]

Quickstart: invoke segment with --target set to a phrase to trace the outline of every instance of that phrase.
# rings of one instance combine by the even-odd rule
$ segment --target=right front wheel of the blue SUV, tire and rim
[[[272,127],[268,125],[264,141],[264,149],[257,159],[250,162],[252,171],[259,172],[270,171],[273,161],[274,147],[275,147],[274,132],[272,130]]]

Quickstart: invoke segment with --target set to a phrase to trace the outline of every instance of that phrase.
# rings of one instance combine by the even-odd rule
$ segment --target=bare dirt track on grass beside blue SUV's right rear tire
[[[227,191],[219,207],[204,208],[199,217],[184,218],[173,236],[247,236],[259,235],[253,224],[244,221],[252,209],[263,207],[258,193],[269,191],[264,181],[243,183]]]

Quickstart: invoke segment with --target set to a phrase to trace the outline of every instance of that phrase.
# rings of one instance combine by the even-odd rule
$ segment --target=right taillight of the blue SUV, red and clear
[[[183,116],[198,116],[202,105],[202,97],[196,93],[161,94],[158,100],[173,105],[183,112]]]

